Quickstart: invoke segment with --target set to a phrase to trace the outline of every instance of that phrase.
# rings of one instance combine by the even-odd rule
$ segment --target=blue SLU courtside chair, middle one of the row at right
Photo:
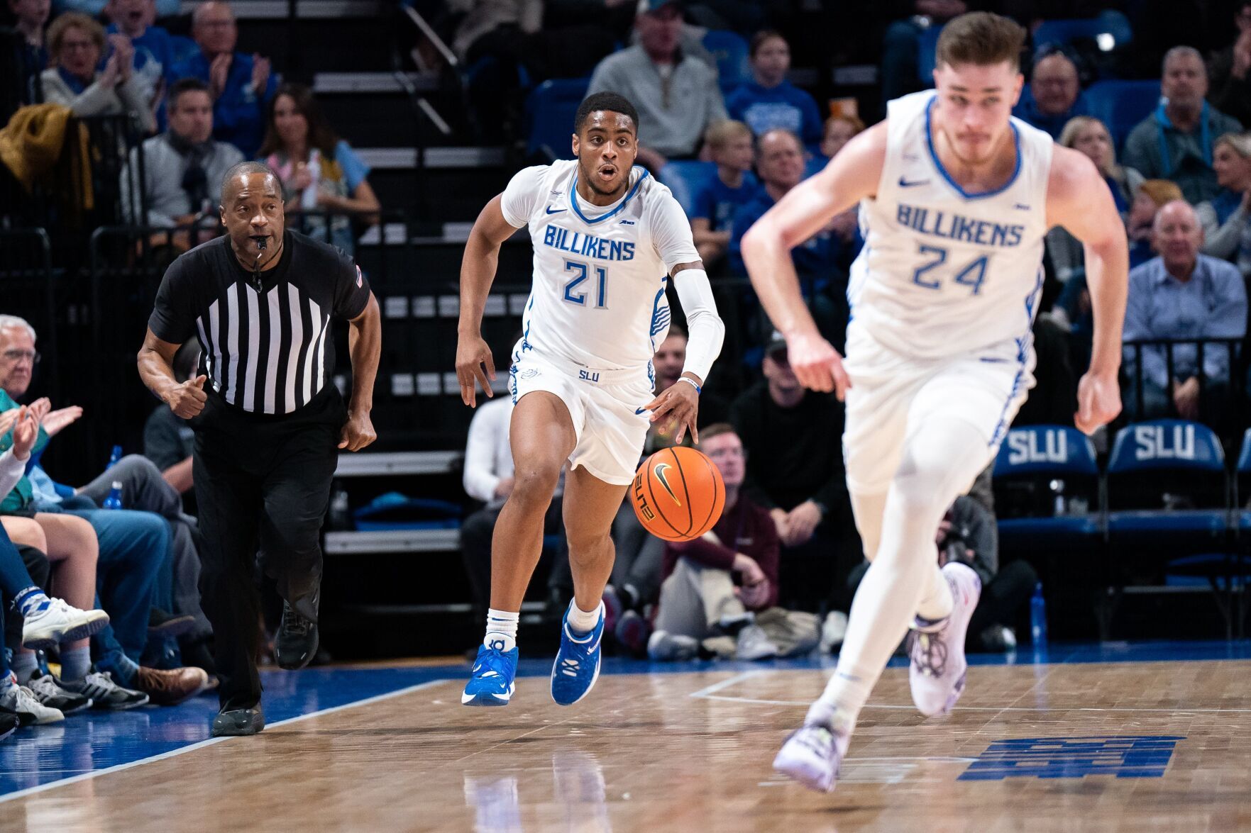
[[[1167,490],[1166,505],[1160,494]],[[1128,497],[1126,497],[1128,493]],[[1145,505],[1147,504],[1147,505]],[[1182,504],[1173,507],[1168,504]],[[1107,464],[1105,524],[1112,564],[1110,598],[1112,608],[1121,593],[1170,593],[1205,589],[1185,584],[1135,584],[1125,587],[1117,570],[1122,554],[1132,553],[1138,573],[1165,562],[1163,573],[1197,573],[1207,578],[1217,605],[1232,635],[1228,584],[1220,577],[1232,574],[1230,547],[1230,478],[1225,452],[1212,429],[1182,419],[1155,419],[1121,429]],[[1107,508],[1112,507],[1112,508]],[[1196,558],[1203,557],[1203,558]],[[1223,594],[1220,592],[1225,589]],[[1107,619],[1103,622],[1107,635]]]

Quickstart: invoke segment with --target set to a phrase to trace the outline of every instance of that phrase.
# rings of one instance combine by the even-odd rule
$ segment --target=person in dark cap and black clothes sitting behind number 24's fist
[[[783,605],[812,608],[862,558],[843,468],[843,405],[799,384],[781,334],[762,369],[764,378],[729,406],[748,455],[743,494],[768,509],[777,527]]]

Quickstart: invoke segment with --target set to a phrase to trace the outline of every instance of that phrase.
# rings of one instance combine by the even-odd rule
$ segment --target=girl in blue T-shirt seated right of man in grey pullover
[[[752,38],[752,75],[726,98],[731,119],[747,124],[757,136],[769,130],[789,130],[816,148],[821,143],[821,114],[811,95],[786,80],[791,69],[791,46],[777,31],[762,31]]]

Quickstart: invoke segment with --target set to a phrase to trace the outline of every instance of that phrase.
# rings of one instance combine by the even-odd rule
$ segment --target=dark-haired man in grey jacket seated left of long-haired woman
[[[126,221],[173,228],[206,216],[215,226],[221,178],[241,161],[238,148],[213,139],[213,99],[204,83],[194,78],[175,81],[169,90],[169,130],[131,150],[121,171]]]

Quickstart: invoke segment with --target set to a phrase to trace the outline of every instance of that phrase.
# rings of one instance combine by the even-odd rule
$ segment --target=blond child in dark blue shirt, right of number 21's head
[[[759,183],[752,175],[756,149],[746,124],[719,121],[708,129],[704,144],[717,163],[717,175],[694,195],[691,234],[699,259],[711,266],[726,255],[734,213],[756,196]]]

